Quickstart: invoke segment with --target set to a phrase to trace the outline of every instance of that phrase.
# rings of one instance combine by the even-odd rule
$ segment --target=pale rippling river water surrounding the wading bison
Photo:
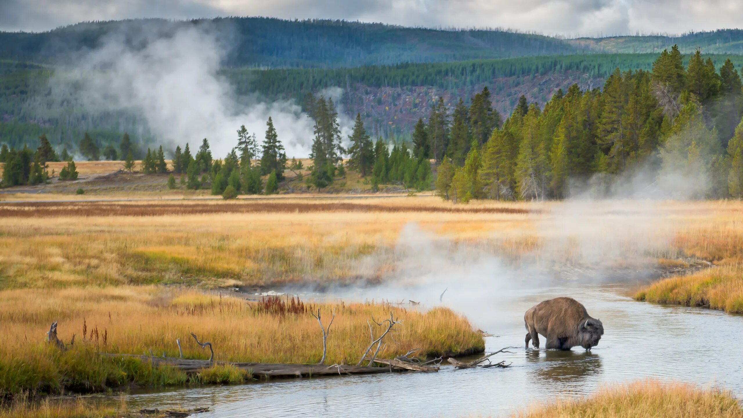
[[[478,324],[493,334],[486,350],[516,346],[496,361],[506,369],[391,373],[288,379],[249,385],[132,393],[130,406],[210,406],[216,417],[466,417],[507,416],[555,396],[582,396],[609,382],[641,378],[715,383],[743,396],[743,315],[661,306],[626,296],[626,285],[522,290],[493,302]],[[524,348],[523,313],[541,300],[571,296],[603,321],[591,353]],[[472,315],[469,313],[468,315]],[[542,338],[544,347],[544,338]]]

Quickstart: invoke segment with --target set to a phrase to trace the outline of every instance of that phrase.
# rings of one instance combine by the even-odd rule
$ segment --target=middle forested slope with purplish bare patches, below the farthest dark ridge
[[[221,74],[241,96],[257,92],[263,100],[288,99],[302,106],[307,94],[339,87],[343,91],[343,112],[350,117],[360,113],[372,135],[409,139],[418,118],[425,118],[440,96],[444,97],[444,106],[452,110],[458,97],[473,97],[487,86],[494,108],[508,115],[522,95],[530,102],[546,103],[555,91],[566,91],[574,83],[587,90],[601,86],[615,68],[647,71],[657,57],[591,54],[358,68],[225,68]],[[684,65],[688,59],[684,59]],[[727,59],[736,68],[743,65],[743,57],[736,55],[710,55],[710,59],[717,67]],[[106,144],[117,144],[123,132],[144,144],[161,142],[150,138],[143,121],[134,115],[85,107],[60,108],[51,100],[46,83],[53,71],[53,67],[43,65],[0,62],[1,142],[13,147],[37,147],[37,138],[44,133],[55,147],[72,151],[85,132],[102,149]],[[135,152],[134,156],[144,155]]]

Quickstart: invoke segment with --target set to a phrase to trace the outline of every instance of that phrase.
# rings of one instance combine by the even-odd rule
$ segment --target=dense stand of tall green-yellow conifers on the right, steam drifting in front
[[[612,179],[640,171],[651,173],[648,184],[701,176],[696,197],[743,197],[743,91],[730,60],[717,71],[696,51],[684,65],[674,46],[651,71],[616,68],[603,89],[573,85],[544,106],[522,96],[485,136],[473,106],[475,98],[469,111],[460,100],[452,115],[434,106],[413,134],[415,152],[441,163],[435,185],[444,199],[609,193]]]

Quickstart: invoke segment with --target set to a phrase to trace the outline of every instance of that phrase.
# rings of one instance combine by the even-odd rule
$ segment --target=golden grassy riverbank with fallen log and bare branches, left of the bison
[[[407,309],[392,303],[319,303],[295,298],[249,301],[194,289],[120,286],[88,289],[20,289],[0,292],[0,393],[99,392],[128,385],[158,387],[186,383],[244,382],[236,367],[204,369],[195,376],[129,356],[146,354],[215,361],[314,364],[323,355],[314,315],[328,327],[325,364],[356,364],[369,346],[367,321],[390,315],[402,321],[377,356],[450,356],[484,350],[480,332],[464,316],[444,307]],[[58,321],[60,350],[44,341]],[[374,326],[375,338],[385,329]],[[25,338],[17,338],[25,335]]]

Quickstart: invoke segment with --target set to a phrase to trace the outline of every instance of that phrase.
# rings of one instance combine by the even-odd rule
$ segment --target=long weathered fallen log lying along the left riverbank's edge
[[[365,367],[338,365],[331,366],[325,364],[279,364],[279,363],[235,363],[231,361],[208,361],[196,360],[192,358],[174,358],[174,357],[153,357],[140,356],[137,354],[109,354],[109,356],[134,357],[142,361],[152,361],[152,364],[166,364],[177,368],[185,373],[198,373],[204,368],[212,367],[215,364],[232,364],[241,370],[246,370],[253,376],[266,377],[308,377],[308,376],[328,376],[337,374],[367,374],[367,373],[385,373],[389,372],[387,367]]]

